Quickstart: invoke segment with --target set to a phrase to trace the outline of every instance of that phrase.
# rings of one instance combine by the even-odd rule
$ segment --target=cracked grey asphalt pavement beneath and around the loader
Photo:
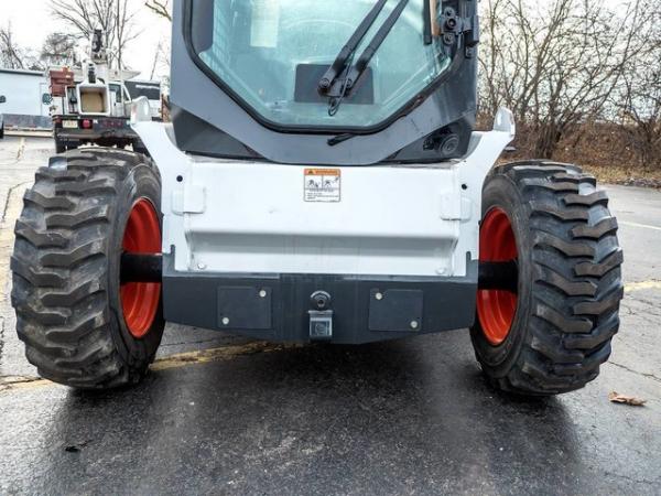
[[[9,301],[13,223],[51,153],[0,141],[0,494],[661,494],[661,192],[606,187],[626,299],[582,391],[495,391],[466,330],[344,347],[169,326],[143,384],[85,393],[36,377]]]

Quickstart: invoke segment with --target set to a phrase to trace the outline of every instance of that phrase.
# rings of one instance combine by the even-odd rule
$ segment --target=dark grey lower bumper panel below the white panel
[[[476,263],[472,269],[477,274]],[[319,291],[330,295],[332,336],[324,341],[360,344],[473,325],[477,277],[192,276],[166,268],[163,278],[167,321],[266,341],[315,341],[311,311],[319,309],[311,296]]]

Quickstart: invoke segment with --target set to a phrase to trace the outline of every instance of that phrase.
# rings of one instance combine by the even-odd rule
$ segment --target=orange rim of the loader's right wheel
[[[518,258],[517,239],[509,217],[502,208],[490,209],[479,233],[481,262],[510,261]],[[517,314],[518,296],[509,291],[477,292],[477,316],[487,341],[501,345],[510,333]]]

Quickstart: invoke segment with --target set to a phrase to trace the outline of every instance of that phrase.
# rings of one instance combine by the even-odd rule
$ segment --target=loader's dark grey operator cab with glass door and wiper
[[[306,148],[347,165],[460,158],[476,112],[475,3],[178,2],[177,145],[284,163],[310,162]]]

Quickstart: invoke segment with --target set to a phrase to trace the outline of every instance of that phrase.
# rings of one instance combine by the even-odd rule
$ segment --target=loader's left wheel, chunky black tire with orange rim
[[[41,376],[83,389],[138,382],[164,321],[159,283],[120,283],[121,254],[161,251],[161,179],[142,155],[67,152],[25,193],[11,259],[19,337]]]

